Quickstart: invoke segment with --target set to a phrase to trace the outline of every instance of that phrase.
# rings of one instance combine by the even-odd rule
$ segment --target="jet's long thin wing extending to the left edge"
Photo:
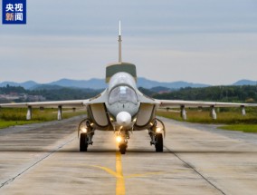
[[[20,102],[20,103],[2,103],[0,108],[52,108],[62,106],[63,108],[78,108],[88,104],[89,100],[72,100],[72,101],[53,101],[53,102]]]

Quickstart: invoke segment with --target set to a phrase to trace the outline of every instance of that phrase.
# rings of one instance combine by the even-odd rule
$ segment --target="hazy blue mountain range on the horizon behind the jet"
[[[0,83],[0,87],[6,86],[22,86],[26,90],[43,89],[43,88],[60,88],[60,87],[71,87],[71,88],[90,88],[90,89],[103,89],[107,87],[104,79],[90,79],[90,80],[71,80],[71,79],[61,79],[52,83],[36,83],[33,81],[27,81],[24,83],[14,83],[14,82],[3,82]],[[231,85],[257,85],[257,81],[250,80],[240,80]],[[187,82],[171,82],[162,83],[153,80],[148,80],[146,78],[138,78],[138,87],[143,87],[146,89],[151,89],[154,87],[165,87],[168,89],[180,89],[185,87],[207,87],[211,86],[204,83],[187,83]]]

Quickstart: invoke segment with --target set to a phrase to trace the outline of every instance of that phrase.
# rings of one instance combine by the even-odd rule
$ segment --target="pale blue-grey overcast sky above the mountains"
[[[27,24],[0,24],[0,82],[104,78],[119,20],[123,61],[139,77],[257,80],[256,0],[27,0]]]

